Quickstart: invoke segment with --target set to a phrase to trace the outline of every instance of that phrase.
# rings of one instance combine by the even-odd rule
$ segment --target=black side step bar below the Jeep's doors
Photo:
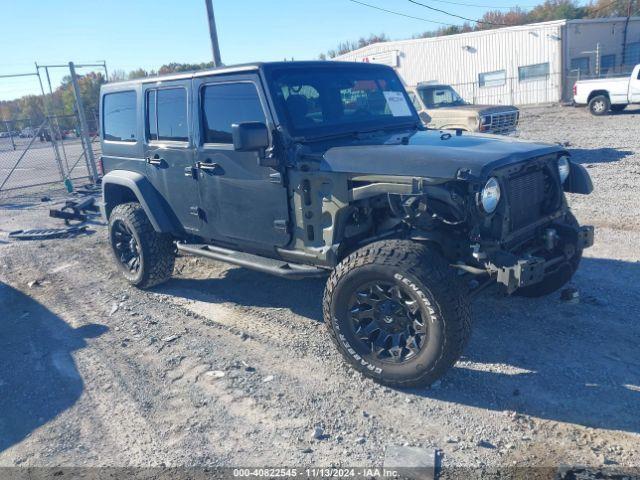
[[[323,268],[287,263],[271,258],[264,258],[250,253],[237,252],[226,248],[216,247],[206,244],[187,244],[177,242],[176,246],[181,252],[200,257],[220,260],[222,262],[238,265],[239,267],[250,268],[259,272],[270,273],[278,277],[290,278],[294,280],[302,278],[324,277],[329,272]]]

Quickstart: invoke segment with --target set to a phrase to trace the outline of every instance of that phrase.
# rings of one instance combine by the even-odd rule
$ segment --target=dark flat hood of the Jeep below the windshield
[[[320,169],[359,175],[395,175],[452,179],[460,169],[485,177],[493,169],[566,151],[552,144],[532,143],[497,135],[438,130],[380,137],[379,143],[329,148]]]

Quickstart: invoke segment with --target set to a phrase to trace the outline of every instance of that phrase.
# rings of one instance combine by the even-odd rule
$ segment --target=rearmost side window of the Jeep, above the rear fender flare
[[[102,100],[102,135],[113,142],[136,142],[136,92],[108,93]]]

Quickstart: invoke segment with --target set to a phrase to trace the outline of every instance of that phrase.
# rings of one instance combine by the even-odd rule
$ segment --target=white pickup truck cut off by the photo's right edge
[[[588,105],[593,115],[621,112],[630,103],[640,103],[640,64],[630,77],[578,80],[573,86],[573,102]]]

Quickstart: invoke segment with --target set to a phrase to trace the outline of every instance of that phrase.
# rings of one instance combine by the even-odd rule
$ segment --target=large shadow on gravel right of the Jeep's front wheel
[[[574,280],[577,304],[480,298],[462,361],[440,389],[413,393],[640,432],[640,263],[585,258]]]

